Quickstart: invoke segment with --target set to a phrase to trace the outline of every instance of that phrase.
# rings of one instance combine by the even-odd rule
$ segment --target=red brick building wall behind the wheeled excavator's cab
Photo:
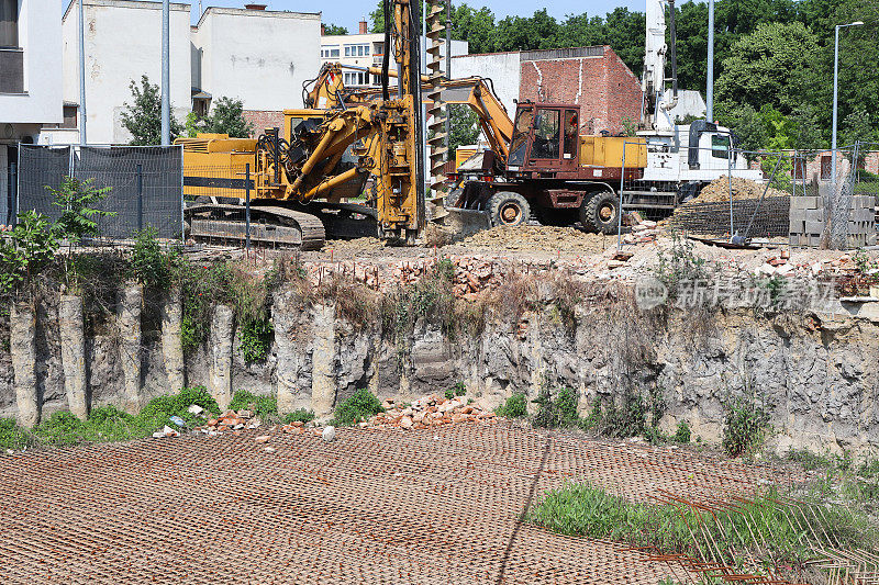
[[[519,99],[580,105],[580,132],[617,133],[641,119],[641,83],[608,46],[601,57],[522,61]]]

